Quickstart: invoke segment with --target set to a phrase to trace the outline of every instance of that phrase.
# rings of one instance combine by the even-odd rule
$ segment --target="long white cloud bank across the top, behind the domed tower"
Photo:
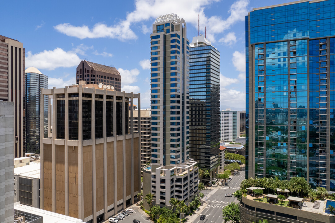
[[[56,25],[54,28],[68,36],[74,36],[79,39],[85,38],[116,38],[121,41],[137,39],[136,34],[131,30],[130,26],[139,22],[153,20],[160,15],[171,12],[176,13],[184,18],[187,24],[198,27],[198,14],[201,18],[201,31],[204,31],[206,24],[208,38],[215,42],[214,35],[221,33],[230,28],[230,26],[238,21],[243,21],[245,15],[248,14],[247,6],[249,0],[236,0],[229,8],[227,18],[221,16],[207,17],[204,13],[206,7],[210,7],[214,2],[219,0],[136,0],[135,10],[128,13],[125,20],[121,20],[115,25],[108,26],[103,23],[96,23],[93,28],[87,25],[74,26],[70,23]],[[175,7],[178,5],[178,7]],[[143,33],[149,30],[148,27],[140,26]]]

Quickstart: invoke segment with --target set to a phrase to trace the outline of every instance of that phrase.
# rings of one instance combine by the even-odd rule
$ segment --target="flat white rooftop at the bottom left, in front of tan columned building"
[[[72,218],[66,215],[57,214],[51,211],[33,208],[26,205],[21,205],[19,202],[14,204],[14,209],[19,211],[28,212],[43,217],[43,222],[47,223],[82,223],[83,221],[78,218]]]

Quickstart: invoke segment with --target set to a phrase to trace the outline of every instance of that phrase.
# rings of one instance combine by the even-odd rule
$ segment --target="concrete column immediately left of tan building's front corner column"
[[[69,215],[69,157],[68,146],[69,140],[69,94],[68,87],[65,87],[65,132],[64,132],[64,183],[65,183],[65,215]]]

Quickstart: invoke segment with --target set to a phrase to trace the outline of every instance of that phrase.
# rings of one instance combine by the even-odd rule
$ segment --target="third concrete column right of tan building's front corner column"
[[[114,214],[118,213],[118,175],[117,175],[117,149],[116,149],[116,95],[113,96],[113,136],[114,136]]]

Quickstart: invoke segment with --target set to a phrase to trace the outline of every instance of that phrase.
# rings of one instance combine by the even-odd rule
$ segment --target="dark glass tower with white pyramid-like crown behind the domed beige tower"
[[[190,46],[190,154],[212,178],[220,152],[220,53],[202,35]]]

